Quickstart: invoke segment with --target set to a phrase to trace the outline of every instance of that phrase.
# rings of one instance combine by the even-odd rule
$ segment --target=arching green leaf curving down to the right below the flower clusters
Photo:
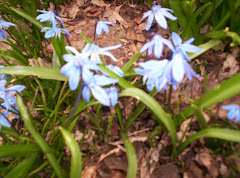
[[[175,148],[177,142],[177,134],[173,120],[170,118],[170,116],[162,109],[162,107],[157,103],[156,100],[154,100],[150,95],[148,95],[147,93],[138,88],[127,88],[123,90],[119,94],[119,97],[123,96],[131,96],[140,100],[151,110],[151,112],[156,117],[157,121],[167,128],[168,132],[172,137],[174,155],[176,151]]]

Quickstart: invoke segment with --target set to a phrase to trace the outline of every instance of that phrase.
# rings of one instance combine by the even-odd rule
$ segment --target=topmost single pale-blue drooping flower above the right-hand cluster
[[[162,6],[154,4],[152,6],[152,9],[150,11],[146,12],[142,17],[142,20],[145,19],[146,17],[148,17],[146,31],[148,31],[151,28],[154,17],[155,17],[158,25],[160,25],[160,27],[167,29],[167,20],[165,17],[167,17],[171,20],[177,19],[177,17],[173,16],[169,12],[173,12],[173,11],[171,9],[162,8]]]

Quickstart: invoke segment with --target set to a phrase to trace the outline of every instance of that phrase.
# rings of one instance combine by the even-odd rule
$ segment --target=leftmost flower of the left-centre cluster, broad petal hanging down
[[[77,89],[82,74],[85,74],[87,70],[100,70],[100,68],[95,63],[89,61],[88,54],[79,53],[70,46],[65,48],[75,55],[63,55],[63,59],[68,63],[61,68],[60,72],[69,78],[69,86],[73,91]]]

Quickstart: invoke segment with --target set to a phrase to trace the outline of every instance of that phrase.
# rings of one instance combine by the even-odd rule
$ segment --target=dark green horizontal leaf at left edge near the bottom
[[[40,152],[41,149],[37,144],[24,144],[24,145],[1,145],[0,157],[19,157],[26,156],[31,153]]]

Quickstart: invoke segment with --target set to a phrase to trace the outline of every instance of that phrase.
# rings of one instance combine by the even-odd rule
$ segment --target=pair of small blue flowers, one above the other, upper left
[[[59,16],[56,16],[53,11],[44,11],[44,10],[37,10],[37,11],[43,13],[36,17],[37,20],[40,20],[40,22],[49,22],[50,24],[52,24],[52,28],[44,27],[41,30],[41,32],[46,31],[45,38],[52,38],[52,37],[57,38],[58,37],[60,39],[61,33],[65,33],[65,34],[69,35],[70,37],[72,37],[71,34],[67,30],[57,27],[56,19],[58,19],[60,21],[61,25],[64,25],[64,24],[63,24],[62,19]]]

